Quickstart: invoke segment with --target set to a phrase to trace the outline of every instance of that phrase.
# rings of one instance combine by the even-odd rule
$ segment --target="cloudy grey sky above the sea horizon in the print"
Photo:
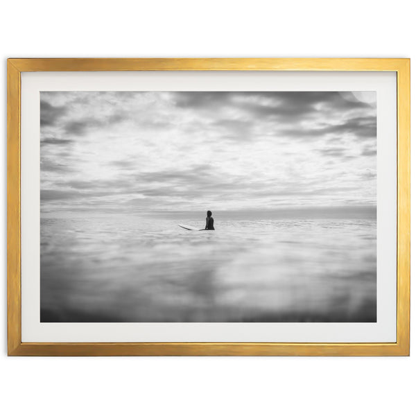
[[[375,92],[42,92],[42,213],[376,204]]]

